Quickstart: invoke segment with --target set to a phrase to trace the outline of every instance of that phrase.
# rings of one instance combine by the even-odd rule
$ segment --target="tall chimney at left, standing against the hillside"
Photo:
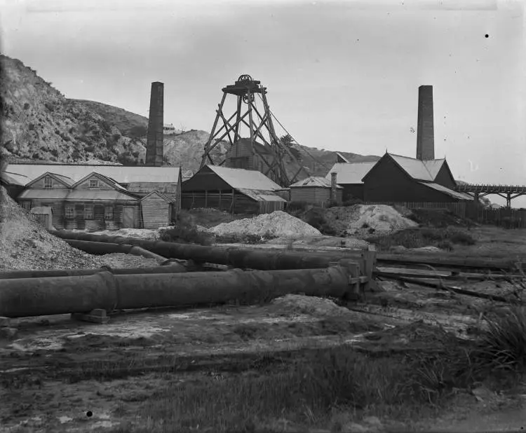
[[[148,119],[148,139],[146,144],[146,165],[163,165],[163,112],[164,84],[151,83],[150,115]]]

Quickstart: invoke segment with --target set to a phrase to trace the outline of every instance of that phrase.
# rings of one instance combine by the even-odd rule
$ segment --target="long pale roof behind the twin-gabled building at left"
[[[13,172],[27,177],[29,181],[36,179],[45,172],[53,172],[79,181],[91,172],[114,179],[119,184],[130,182],[170,182],[179,181],[180,167],[124,167],[123,165],[76,165],[76,164],[9,164],[7,172]]]

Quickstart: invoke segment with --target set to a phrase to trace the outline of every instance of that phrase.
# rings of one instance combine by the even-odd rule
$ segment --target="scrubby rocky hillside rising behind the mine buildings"
[[[144,163],[147,118],[100,102],[67,99],[20,60],[0,55],[0,67],[0,153],[10,160]],[[209,132],[198,130],[166,135],[165,163],[195,172],[201,163],[208,136]],[[295,147],[301,156],[300,163],[313,175],[325,176],[336,161],[335,152]],[[221,142],[214,149],[213,157],[222,160],[227,150],[227,142]],[[379,159],[355,153],[342,154],[356,162]],[[297,163],[290,159],[285,163],[288,172],[297,172]]]

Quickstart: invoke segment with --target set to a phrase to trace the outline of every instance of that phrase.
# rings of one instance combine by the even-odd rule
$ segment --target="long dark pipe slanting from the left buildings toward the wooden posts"
[[[259,270],[279,269],[318,269],[327,268],[331,263],[341,259],[361,259],[359,252],[351,255],[344,253],[316,254],[306,252],[281,252],[276,250],[251,249],[241,247],[203,247],[201,245],[177,244],[161,240],[143,240],[122,238],[120,236],[90,235],[88,233],[52,231],[60,238],[76,241],[99,242],[100,251],[94,254],[108,254],[114,245],[137,245],[148,251],[170,259],[194,260],[201,263],[217,263],[234,266],[236,268],[250,268]],[[104,248],[102,245],[112,245]],[[74,246],[74,243],[70,245]],[[83,244],[77,244],[79,247]],[[91,245],[95,251],[95,244]],[[98,245],[96,246],[99,247]],[[85,250],[86,251],[86,250]]]

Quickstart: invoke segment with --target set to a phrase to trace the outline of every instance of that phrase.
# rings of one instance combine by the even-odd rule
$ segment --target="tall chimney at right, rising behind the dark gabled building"
[[[417,159],[435,159],[432,85],[421,85],[418,88]]]

